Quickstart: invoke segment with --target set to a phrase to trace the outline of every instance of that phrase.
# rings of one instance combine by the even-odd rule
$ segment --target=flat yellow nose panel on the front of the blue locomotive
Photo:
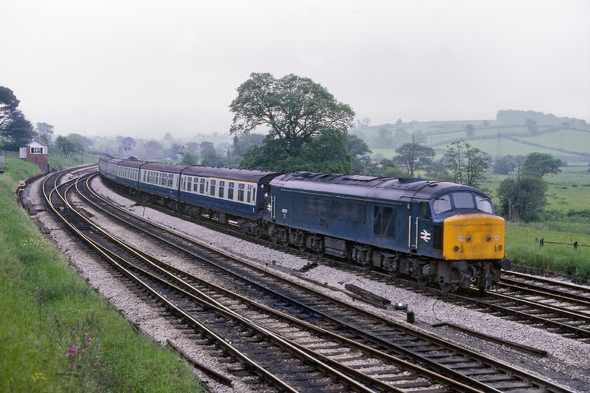
[[[487,213],[457,214],[445,218],[442,258],[446,260],[501,260],[504,218]]]

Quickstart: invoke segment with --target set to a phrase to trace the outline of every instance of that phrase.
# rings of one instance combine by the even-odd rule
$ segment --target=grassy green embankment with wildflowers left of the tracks
[[[0,391],[200,392],[169,349],[137,335],[86,285],[18,206],[38,172],[6,158],[0,175]]]

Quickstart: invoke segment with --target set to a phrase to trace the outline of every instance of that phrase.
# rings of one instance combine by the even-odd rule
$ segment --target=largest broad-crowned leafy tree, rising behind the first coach
[[[263,146],[252,147],[244,153],[240,166],[352,170],[352,156],[346,151],[345,135],[346,129],[353,125],[353,109],[336,101],[334,95],[311,79],[294,74],[275,79],[269,73],[253,73],[237,88],[237,98],[230,109],[235,114],[230,128],[232,134],[243,135],[259,126],[268,127]],[[320,145],[320,140],[338,151]],[[315,161],[308,161],[310,157],[320,161],[315,158]],[[348,163],[340,165],[334,159],[346,159]]]

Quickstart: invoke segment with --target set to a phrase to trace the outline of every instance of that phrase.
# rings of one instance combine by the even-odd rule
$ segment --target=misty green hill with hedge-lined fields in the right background
[[[374,159],[391,159],[414,132],[440,155],[452,142],[466,140],[490,156],[543,152],[570,165],[590,162],[590,126],[586,121],[542,112],[506,110],[499,111],[495,120],[398,121],[350,130],[365,140]]]

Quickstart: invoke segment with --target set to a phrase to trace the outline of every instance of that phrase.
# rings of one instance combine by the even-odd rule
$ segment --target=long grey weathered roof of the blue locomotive
[[[377,178],[365,175],[336,175],[333,173],[287,173],[275,178],[271,184],[286,189],[301,189],[317,194],[329,192],[353,197],[397,201],[431,199],[437,194],[459,189],[485,195],[478,189],[453,182],[415,178]]]

